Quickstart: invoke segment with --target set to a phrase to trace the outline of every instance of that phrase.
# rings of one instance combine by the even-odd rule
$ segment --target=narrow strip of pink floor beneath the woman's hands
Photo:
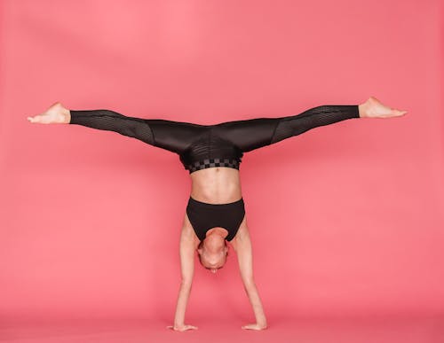
[[[199,321],[197,331],[164,329],[162,320],[67,320],[1,324],[0,340],[15,343],[142,342],[299,342],[442,343],[444,318],[378,316],[345,318],[272,318],[265,331],[242,331],[233,320]]]

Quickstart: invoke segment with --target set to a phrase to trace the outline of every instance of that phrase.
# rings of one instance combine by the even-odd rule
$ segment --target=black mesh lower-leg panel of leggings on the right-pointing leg
[[[304,113],[282,118],[274,130],[270,144],[290,136],[300,135],[309,129],[352,118],[359,118],[357,105],[321,105],[313,107]]]

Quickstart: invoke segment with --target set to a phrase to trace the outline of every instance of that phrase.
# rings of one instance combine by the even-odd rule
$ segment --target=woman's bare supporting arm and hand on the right
[[[233,246],[237,253],[243,286],[249,297],[254,316],[256,317],[256,324],[244,325],[242,329],[266,329],[266,315],[253,277],[253,253],[250,233],[246,225],[242,226],[242,229],[238,231],[235,239],[235,245]]]

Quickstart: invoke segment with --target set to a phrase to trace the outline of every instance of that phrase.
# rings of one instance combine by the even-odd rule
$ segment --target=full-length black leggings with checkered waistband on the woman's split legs
[[[337,121],[359,118],[358,105],[321,105],[278,118],[226,121],[214,125],[128,117],[109,110],[71,110],[70,124],[115,131],[178,153],[189,173],[204,168],[239,169],[244,152]]]

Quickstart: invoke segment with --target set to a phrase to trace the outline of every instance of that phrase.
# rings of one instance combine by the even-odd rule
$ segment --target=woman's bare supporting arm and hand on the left
[[[176,331],[186,331],[197,329],[193,325],[185,324],[186,304],[191,292],[194,276],[194,238],[189,227],[184,225],[180,234],[180,269],[181,281],[178,291],[178,303],[176,306],[176,314],[174,316],[174,325],[169,328]]]

